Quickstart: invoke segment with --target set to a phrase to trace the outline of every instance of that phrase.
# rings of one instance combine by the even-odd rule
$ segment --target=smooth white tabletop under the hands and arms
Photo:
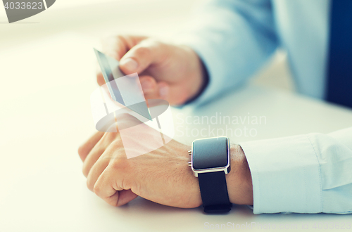
[[[77,34],[63,34],[1,51],[0,231],[203,231],[206,222],[230,222],[233,229],[253,222],[253,231],[274,224],[275,230],[281,225],[320,231],[321,223],[352,222],[352,215],[253,215],[246,206],[210,216],[201,208],[165,207],[142,198],[123,207],[107,205],[87,189],[77,155],[77,147],[94,132],[89,106],[89,94],[96,88],[94,45]],[[242,132],[244,127],[252,129],[252,135],[256,131],[256,136],[230,135],[232,142],[327,133],[352,122],[351,110],[249,86],[203,108],[174,109],[176,139],[190,143],[201,137],[196,130],[226,129],[220,123],[180,123],[187,116],[210,119],[216,112],[242,120],[265,116],[266,124],[232,124]],[[194,136],[180,134],[186,126]]]

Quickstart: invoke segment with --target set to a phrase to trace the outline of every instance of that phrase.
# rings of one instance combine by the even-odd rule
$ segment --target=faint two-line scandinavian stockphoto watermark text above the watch
[[[193,137],[256,137],[258,125],[267,124],[267,118],[263,115],[222,115],[215,112],[213,115],[176,115],[176,136]]]

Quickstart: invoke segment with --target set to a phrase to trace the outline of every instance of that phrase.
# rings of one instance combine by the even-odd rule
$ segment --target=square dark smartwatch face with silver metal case
[[[228,163],[228,138],[206,138],[193,142],[192,163],[195,170],[225,167]]]

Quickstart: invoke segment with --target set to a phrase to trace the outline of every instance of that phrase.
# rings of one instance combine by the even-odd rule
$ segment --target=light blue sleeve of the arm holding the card
[[[207,68],[210,81],[198,105],[244,84],[275,51],[277,39],[270,1],[213,1],[196,18],[175,42],[193,49]]]

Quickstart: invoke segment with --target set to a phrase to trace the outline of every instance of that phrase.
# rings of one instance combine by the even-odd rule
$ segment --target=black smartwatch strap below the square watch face
[[[225,172],[199,173],[198,180],[204,212],[215,214],[231,210],[232,203],[227,193]]]

